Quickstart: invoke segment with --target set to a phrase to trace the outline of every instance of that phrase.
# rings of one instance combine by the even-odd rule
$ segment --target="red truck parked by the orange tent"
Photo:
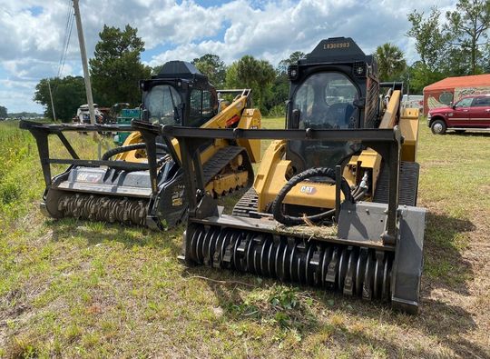
[[[465,96],[454,105],[434,108],[428,112],[427,125],[434,135],[490,130],[490,94]]]

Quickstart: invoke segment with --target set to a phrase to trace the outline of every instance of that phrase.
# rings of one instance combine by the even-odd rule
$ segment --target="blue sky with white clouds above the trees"
[[[79,0],[89,57],[103,25],[138,28],[142,62],[162,65],[216,54],[228,65],[253,55],[278,65],[294,51],[308,54],[321,39],[352,37],[366,54],[392,43],[417,60],[407,14],[456,0]],[[42,78],[83,75],[76,26],[63,63],[72,0],[0,0],[0,105],[9,113],[43,112],[34,103]]]

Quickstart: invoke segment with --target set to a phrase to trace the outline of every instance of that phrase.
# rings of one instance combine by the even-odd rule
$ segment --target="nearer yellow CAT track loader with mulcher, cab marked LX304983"
[[[289,80],[285,130],[143,130],[181,145],[182,259],[417,313],[426,221],[416,206],[418,110],[400,107],[402,85],[380,84],[376,60],[350,38],[321,41]],[[202,181],[199,148],[211,138],[274,140],[232,215]]]

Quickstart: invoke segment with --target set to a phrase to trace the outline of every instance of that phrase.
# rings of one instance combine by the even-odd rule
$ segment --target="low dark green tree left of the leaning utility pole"
[[[70,122],[80,105],[86,104],[85,85],[81,76],[66,76],[50,79],[56,117]],[[53,108],[49,95],[48,79],[42,79],[36,86],[34,101],[45,106],[44,115],[53,119]]]

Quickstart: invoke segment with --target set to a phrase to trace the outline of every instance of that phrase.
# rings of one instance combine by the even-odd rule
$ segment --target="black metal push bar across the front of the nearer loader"
[[[205,196],[205,182],[202,174],[199,149],[210,139],[271,139],[332,142],[357,142],[377,151],[387,164],[389,172],[387,231],[382,235],[385,244],[395,244],[397,234],[398,181],[400,150],[403,137],[397,126],[393,129],[347,129],[347,130],[259,130],[259,129],[207,129],[171,125],[151,125],[147,122],[132,121],[132,129],[140,131],[147,146],[152,184],[156,183],[157,163],[155,140],[159,135],[170,141],[176,138],[181,146],[181,165],[183,166],[186,193],[189,201],[189,217],[203,218],[210,211],[200,208]],[[170,147],[170,146],[169,146]]]

